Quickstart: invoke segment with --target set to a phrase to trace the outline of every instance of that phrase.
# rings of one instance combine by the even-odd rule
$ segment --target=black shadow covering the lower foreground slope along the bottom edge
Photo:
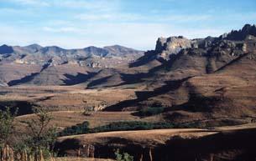
[[[213,134],[201,137],[180,137],[177,134],[165,143],[157,144],[120,137],[108,137],[102,142],[87,144],[84,140],[67,138],[55,143],[55,148],[60,156],[66,154],[76,156],[77,153],[88,156],[88,153],[92,153],[95,158],[115,158],[115,149],[120,149],[121,153],[131,154],[134,161],[255,160],[256,128],[223,132],[208,130],[199,133],[209,132]],[[196,134],[196,131],[191,133]],[[143,136],[140,139],[143,140]],[[88,147],[93,147],[93,150],[90,151]]]

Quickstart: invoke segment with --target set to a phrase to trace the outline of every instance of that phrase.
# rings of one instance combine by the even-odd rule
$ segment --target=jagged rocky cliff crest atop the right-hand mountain
[[[243,53],[243,41],[248,37],[256,36],[256,26],[246,24],[241,30],[222,34],[219,38],[207,37],[188,39],[182,36],[170,38],[158,38],[155,49],[144,53],[131,67],[137,67],[158,60],[159,62],[170,61],[170,57],[179,55],[182,50],[191,50],[197,55],[218,57],[219,55],[239,56]],[[242,50],[241,50],[242,48]],[[235,58],[235,57],[234,57]],[[143,63],[142,63],[143,62]]]

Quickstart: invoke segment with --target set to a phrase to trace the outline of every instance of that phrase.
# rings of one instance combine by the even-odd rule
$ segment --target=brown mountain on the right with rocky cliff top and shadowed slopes
[[[123,77],[134,78],[130,83],[145,85],[144,90],[107,110],[168,107],[161,115],[165,121],[204,127],[251,122],[256,117],[255,36],[256,26],[245,25],[218,38],[159,38],[155,50],[129,64],[150,67],[148,72]]]

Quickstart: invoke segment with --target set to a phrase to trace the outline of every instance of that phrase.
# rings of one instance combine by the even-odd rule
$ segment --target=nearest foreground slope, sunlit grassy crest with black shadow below
[[[142,134],[144,133],[144,134]],[[161,129],[93,133],[59,138],[61,154],[114,158],[120,148],[134,160],[253,160],[255,125],[251,128]],[[93,147],[94,150],[88,149]]]

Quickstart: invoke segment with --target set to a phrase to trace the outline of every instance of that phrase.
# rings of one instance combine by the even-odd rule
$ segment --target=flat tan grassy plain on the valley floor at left
[[[84,89],[79,86],[17,86],[0,87],[1,101],[28,101],[39,106],[60,110],[81,110],[99,104],[112,105],[136,98],[135,89]]]

